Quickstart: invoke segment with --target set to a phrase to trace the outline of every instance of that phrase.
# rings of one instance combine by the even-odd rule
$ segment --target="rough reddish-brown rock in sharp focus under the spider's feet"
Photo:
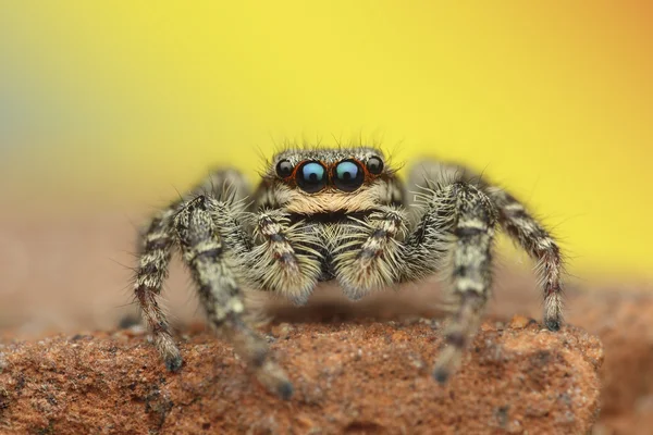
[[[289,401],[207,333],[183,339],[178,374],[130,331],[5,345],[0,432],[583,434],[599,412],[603,350],[575,327],[485,323],[445,387],[430,376],[434,322],[282,324],[268,336],[295,385]]]

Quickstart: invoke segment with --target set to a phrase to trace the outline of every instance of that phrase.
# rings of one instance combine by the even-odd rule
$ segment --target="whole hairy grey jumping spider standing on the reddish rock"
[[[469,170],[435,161],[412,169],[406,189],[383,153],[369,147],[285,150],[254,191],[237,171],[215,171],[152,219],[135,295],[167,368],[178,370],[182,356],[157,302],[178,247],[209,322],[266,387],[287,398],[291,383],[244,320],[243,287],[301,304],[324,281],[359,299],[449,271],[456,309],[433,370],[444,383],[489,298],[497,225],[538,261],[544,323],[558,330],[560,252],[521,203]]]

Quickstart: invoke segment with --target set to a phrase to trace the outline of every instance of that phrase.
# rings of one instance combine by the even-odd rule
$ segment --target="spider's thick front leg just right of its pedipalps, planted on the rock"
[[[456,370],[479,327],[492,284],[495,225],[496,212],[488,196],[473,185],[456,182],[432,191],[421,221],[406,241],[405,279],[436,272],[451,252],[457,311],[445,333],[448,346],[433,371],[440,383]]]

